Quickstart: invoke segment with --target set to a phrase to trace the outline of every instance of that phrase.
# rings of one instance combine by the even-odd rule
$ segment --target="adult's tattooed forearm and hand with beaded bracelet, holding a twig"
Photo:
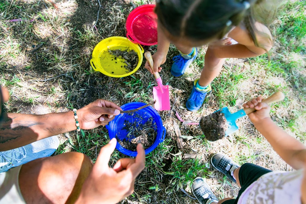
[[[98,99],[77,110],[81,129],[106,125],[121,108],[115,103]],[[21,147],[53,135],[76,130],[73,112],[28,115],[5,113],[0,124],[0,151]]]

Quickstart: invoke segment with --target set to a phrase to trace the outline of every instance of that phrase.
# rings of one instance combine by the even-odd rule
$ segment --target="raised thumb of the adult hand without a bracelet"
[[[116,138],[113,138],[107,145],[102,147],[94,165],[95,170],[99,172],[103,171],[106,168],[109,168],[108,162],[110,161],[110,156],[116,148],[116,144],[117,140]]]

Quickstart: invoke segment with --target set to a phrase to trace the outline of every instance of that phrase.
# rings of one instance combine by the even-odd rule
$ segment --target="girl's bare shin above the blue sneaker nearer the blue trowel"
[[[208,46],[204,57],[204,68],[202,70],[199,85],[202,87],[208,86],[221,72],[225,58],[216,57],[211,47]]]

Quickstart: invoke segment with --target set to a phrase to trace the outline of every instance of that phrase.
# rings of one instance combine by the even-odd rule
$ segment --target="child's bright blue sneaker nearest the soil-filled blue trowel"
[[[211,91],[211,85],[209,84],[206,89],[199,89],[196,87],[196,83],[199,79],[194,81],[194,85],[191,94],[186,102],[186,108],[190,111],[199,110],[204,102],[205,96]]]

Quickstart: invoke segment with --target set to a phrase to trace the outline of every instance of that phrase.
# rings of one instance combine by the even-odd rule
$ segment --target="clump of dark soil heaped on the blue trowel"
[[[224,113],[216,111],[208,116],[202,117],[200,127],[209,141],[217,141],[225,137],[225,132],[228,128]]]

